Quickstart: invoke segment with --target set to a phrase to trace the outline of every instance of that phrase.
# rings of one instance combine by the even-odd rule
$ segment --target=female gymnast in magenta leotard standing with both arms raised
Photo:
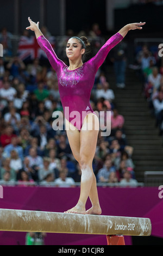
[[[90,94],[95,81],[95,75],[103,64],[111,48],[120,42],[130,30],[142,29],[145,22],[130,23],[105,42],[97,54],[84,63],[83,56],[90,45],[85,36],[70,38],[66,46],[66,55],[69,60],[67,66],[55,54],[51,44],[39,29],[39,22],[33,22],[28,17],[30,26],[26,29],[34,31],[40,47],[47,54],[52,68],[57,72],[58,86],[62,107],[65,114],[65,125],[68,142],[74,158],[79,163],[82,171],[80,183],[80,196],[77,204],[66,213],[101,215],[96,177],[92,169],[95,156],[97,137],[99,132],[99,119],[90,105]],[[69,108],[67,113],[66,108]],[[75,112],[74,112],[75,111]],[[76,114],[76,126],[73,113]],[[84,114],[83,114],[84,113]],[[74,117],[74,116],[73,116]],[[91,208],[86,210],[87,199],[91,200]]]

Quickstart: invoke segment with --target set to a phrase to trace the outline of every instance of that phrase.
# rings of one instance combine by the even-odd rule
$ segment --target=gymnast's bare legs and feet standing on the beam
[[[80,164],[82,170],[80,198],[76,206],[66,212],[73,212],[79,214],[101,214],[101,208],[98,200],[96,177],[92,169],[92,161],[95,155],[97,136],[99,130],[99,121],[96,115],[92,115],[90,120],[91,129],[89,130],[89,118],[88,115],[84,119],[82,130],[79,132],[77,129],[71,131],[67,130],[67,137],[72,149],[72,153],[76,160]],[[92,125],[93,123],[93,125]],[[68,128],[71,124],[66,121]],[[96,129],[95,129],[96,127]],[[73,127],[74,128],[74,127]],[[66,126],[67,129],[67,126]],[[89,210],[85,210],[85,204],[87,198],[90,197],[92,207]]]

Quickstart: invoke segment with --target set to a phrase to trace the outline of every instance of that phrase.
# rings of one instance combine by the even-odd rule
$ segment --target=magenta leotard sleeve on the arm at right
[[[109,38],[108,41],[101,47],[101,49],[97,52],[97,54],[91,58],[88,63],[91,65],[92,71],[97,72],[99,67],[103,64],[106,56],[110,52],[110,50],[116,46],[121,40],[123,36],[120,33],[116,33]]]

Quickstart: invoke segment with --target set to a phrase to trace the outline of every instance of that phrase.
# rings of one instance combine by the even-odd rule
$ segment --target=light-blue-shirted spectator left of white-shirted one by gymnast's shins
[[[49,159],[49,157],[43,157],[43,168],[39,169],[39,181],[43,181],[47,178],[48,174],[52,174],[53,175],[53,180],[55,178],[54,176],[54,171],[53,169],[49,168],[49,164],[50,164],[51,160]]]

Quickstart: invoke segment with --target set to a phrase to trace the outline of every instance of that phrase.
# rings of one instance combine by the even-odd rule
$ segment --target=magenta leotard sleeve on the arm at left
[[[53,69],[57,72],[58,69],[60,68],[61,65],[65,65],[64,62],[62,62],[62,60],[60,60],[56,53],[54,52],[51,44],[49,43],[49,41],[45,38],[45,36],[40,35],[37,38],[37,42],[40,45],[41,49],[43,51],[45,51],[47,58],[49,60],[49,62],[51,63]]]

